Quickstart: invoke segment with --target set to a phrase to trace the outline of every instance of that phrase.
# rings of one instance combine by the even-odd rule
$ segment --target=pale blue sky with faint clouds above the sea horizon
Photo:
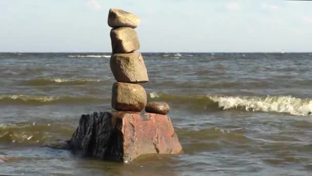
[[[141,52],[311,52],[312,1],[0,0],[0,52],[110,52],[110,8]]]

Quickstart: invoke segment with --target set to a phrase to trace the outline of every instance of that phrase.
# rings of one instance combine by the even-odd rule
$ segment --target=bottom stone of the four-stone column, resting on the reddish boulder
[[[117,111],[141,112],[147,102],[146,92],[140,84],[115,82],[112,87],[112,108]]]

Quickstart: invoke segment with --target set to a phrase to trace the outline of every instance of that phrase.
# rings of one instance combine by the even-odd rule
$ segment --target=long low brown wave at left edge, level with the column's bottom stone
[[[108,102],[109,99],[97,97],[74,96],[32,96],[32,95],[0,95],[0,103],[10,104],[47,104],[47,103],[90,103]]]

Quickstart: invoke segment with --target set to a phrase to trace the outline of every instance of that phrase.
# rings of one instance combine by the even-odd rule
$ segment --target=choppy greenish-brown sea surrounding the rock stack
[[[111,111],[109,53],[0,54],[0,175],[312,175],[311,53],[144,53],[184,152],[132,164],[45,145]]]

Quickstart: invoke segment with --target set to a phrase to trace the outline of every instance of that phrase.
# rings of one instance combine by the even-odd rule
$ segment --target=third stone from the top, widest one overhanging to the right
[[[146,66],[140,52],[113,54],[110,68],[118,82],[148,82]]]

